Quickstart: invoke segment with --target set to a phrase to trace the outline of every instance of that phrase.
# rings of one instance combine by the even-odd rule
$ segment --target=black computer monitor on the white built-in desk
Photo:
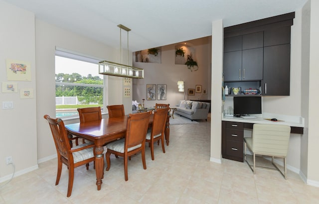
[[[234,97],[234,115],[243,116],[261,113],[260,96]]]

